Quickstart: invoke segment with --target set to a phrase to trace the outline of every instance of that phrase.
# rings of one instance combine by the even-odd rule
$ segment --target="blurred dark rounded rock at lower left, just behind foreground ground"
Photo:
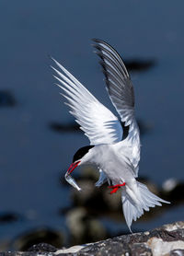
[[[26,232],[19,236],[13,243],[15,250],[29,250],[34,244],[52,244],[56,248],[63,245],[63,235],[56,230],[48,227],[40,227]],[[46,248],[46,246],[45,246]]]

